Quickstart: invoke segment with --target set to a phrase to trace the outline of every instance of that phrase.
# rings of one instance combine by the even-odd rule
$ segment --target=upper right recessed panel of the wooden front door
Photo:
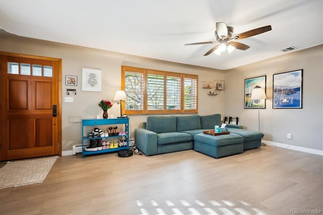
[[[36,110],[50,110],[52,108],[52,84],[51,82],[36,81],[35,106]]]

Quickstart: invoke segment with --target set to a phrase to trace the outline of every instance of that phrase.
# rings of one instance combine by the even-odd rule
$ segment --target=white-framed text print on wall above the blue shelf
[[[82,91],[101,92],[101,70],[82,69]]]

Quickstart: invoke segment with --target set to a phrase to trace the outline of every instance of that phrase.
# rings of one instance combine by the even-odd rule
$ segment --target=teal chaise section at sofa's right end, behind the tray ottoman
[[[243,137],[243,150],[258,148],[261,145],[263,133],[247,129],[229,128],[230,133],[239,134]]]

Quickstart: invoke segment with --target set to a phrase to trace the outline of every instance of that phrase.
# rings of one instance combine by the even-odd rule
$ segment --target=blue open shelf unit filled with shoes
[[[109,125],[125,125],[125,135],[118,135],[118,136],[109,136],[109,137],[97,137],[97,138],[87,138],[88,133],[84,133],[85,127],[90,127],[90,130],[92,130],[95,127],[102,127],[102,126],[109,126]],[[106,129],[102,129],[103,132]],[[118,147],[118,148],[111,148],[111,149],[102,149],[97,151],[85,151],[84,150],[84,143],[87,143],[91,139],[125,139],[127,140],[127,146]],[[121,149],[129,149],[129,118],[117,118],[117,119],[82,119],[82,157],[85,155],[90,154],[100,154],[100,153],[106,153],[106,152],[113,152],[113,151],[119,151]]]

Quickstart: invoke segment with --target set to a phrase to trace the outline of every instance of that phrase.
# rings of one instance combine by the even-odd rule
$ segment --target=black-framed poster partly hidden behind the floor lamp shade
[[[244,108],[266,108],[266,99],[251,99],[252,90],[255,87],[264,88],[266,91],[266,76],[248,78],[244,80]]]

